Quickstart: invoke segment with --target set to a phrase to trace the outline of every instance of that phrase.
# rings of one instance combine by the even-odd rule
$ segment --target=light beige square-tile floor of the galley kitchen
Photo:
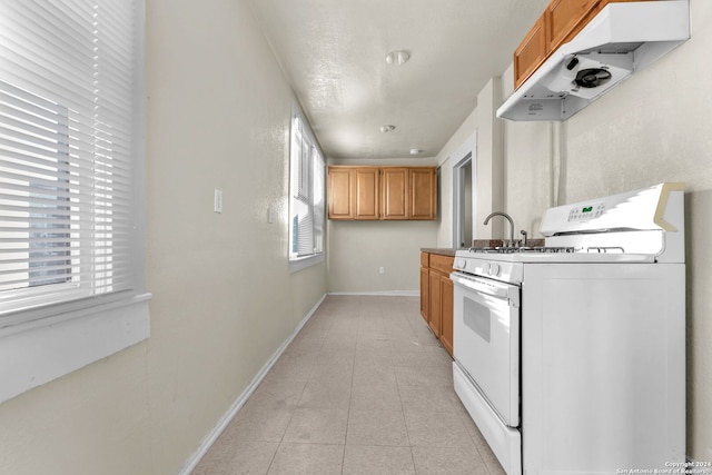
[[[328,296],[192,472],[504,474],[417,297]]]

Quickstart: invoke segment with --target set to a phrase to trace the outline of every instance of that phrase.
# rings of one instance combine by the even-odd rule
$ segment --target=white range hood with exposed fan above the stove
[[[566,120],[689,38],[689,0],[609,3],[510,96],[497,117]]]

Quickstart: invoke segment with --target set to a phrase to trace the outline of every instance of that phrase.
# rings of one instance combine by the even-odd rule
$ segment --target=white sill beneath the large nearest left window
[[[147,339],[150,294],[0,330],[0,403]]]

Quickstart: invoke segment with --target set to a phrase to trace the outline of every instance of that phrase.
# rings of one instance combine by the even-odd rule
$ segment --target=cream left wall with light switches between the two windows
[[[151,337],[0,405],[0,473],[178,473],[326,293],[288,270],[294,96],[248,2],[147,0],[147,95]]]

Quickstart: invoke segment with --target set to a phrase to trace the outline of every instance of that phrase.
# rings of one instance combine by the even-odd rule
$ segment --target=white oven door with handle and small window
[[[454,357],[504,425],[520,425],[520,287],[453,273]]]

